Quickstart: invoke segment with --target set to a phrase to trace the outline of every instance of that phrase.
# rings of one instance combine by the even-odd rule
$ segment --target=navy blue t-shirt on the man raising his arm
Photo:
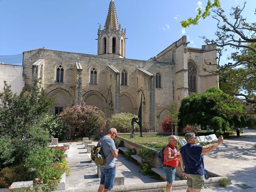
[[[185,166],[184,172],[186,174],[204,175],[203,155],[201,155],[202,149],[203,149],[203,146],[192,145],[188,143],[185,146],[182,146],[182,148],[180,149],[182,160]],[[196,161],[194,161],[191,157],[189,157],[188,153],[199,164]]]

